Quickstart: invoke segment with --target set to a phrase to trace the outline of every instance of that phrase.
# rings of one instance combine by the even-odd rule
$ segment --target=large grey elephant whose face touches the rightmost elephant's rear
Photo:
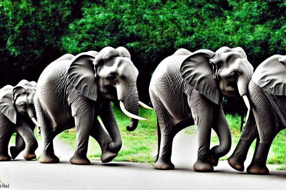
[[[197,50],[179,49],[165,58],[151,77],[149,94],[157,116],[158,156],[155,169],[172,170],[172,141],[187,126],[196,125],[198,158],[193,169],[213,171],[218,159],[229,152],[231,134],[221,101],[223,95],[240,98],[245,77],[253,74],[241,47]],[[211,129],[220,145],[210,150]]]

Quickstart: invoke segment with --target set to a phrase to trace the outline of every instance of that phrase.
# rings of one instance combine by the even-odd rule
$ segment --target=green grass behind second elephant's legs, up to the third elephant
[[[136,130],[132,132],[126,130],[130,118],[117,107],[113,106],[113,111],[122,136],[122,148],[114,161],[154,162],[154,156],[157,153],[157,121],[154,110],[140,107],[139,115],[147,120],[139,121]],[[100,118],[99,121],[101,122]],[[76,149],[75,130],[66,130],[58,137],[73,150]],[[100,155],[101,149],[97,141],[89,137],[87,156],[91,160],[100,160]]]

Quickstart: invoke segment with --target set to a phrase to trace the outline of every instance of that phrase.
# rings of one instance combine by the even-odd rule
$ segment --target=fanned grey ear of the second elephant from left
[[[71,60],[68,78],[73,87],[89,99],[97,99],[97,81],[95,78],[93,53],[84,52]]]

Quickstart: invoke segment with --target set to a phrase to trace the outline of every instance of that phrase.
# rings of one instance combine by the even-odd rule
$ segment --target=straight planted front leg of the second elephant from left
[[[94,120],[94,109],[89,109],[83,115],[75,116],[75,128],[77,134],[77,150],[71,157],[71,164],[89,165],[90,161],[86,157],[88,148],[88,137]]]

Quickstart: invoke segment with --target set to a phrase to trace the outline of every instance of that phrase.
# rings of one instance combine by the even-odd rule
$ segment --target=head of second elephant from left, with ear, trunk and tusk
[[[84,96],[94,101],[98,96],[119,101],[122,111],[131,117],[129,131],[136,129],[138,119],[145,120],[138,116],[137,76],[138,70],[124,47],[105,47],[97,55],[80,53],[68,68],[69,81]]]

